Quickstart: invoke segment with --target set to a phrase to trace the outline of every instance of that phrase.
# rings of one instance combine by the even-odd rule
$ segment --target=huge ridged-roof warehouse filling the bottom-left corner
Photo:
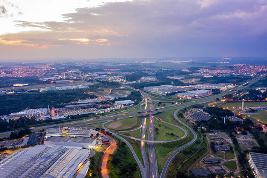
[[[89,166],[89,155],[90,150],[64,146],[19,149],[0,161],[0,178],[72,178],[81,166]]]

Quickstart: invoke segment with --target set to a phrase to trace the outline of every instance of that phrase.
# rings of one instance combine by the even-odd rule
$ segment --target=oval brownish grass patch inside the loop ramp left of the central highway
[[[141,118],[132,117],[126,119],[115,120],[106,124],[108,129],[127,130],[134,129],[140,126]]]

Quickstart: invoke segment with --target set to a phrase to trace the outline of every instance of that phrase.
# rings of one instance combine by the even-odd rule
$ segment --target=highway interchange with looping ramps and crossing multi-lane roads
[[[167,174],[167,171],[168,171],[168,167],[169,167],[171,161],[173,160],[173,158],[178,154],[178,152],[180,152],[184,148],[188,147],[189,145],[193,144],[195,142],[195,140],[197,139],[197,134],[195,133],[195,131],[191,127],[189,127],[188,125],[184,124],[182,121],[179,120],[179,118],[177,117],[177,112],[179,110],[181,110],[181,109],[184,109],[184,108],[187,108],[187,107],[190,107],[190,106],[193,106],[193,105],[208,103],[208,102],[214,101],[214,99],[216,99],[216,98],[222,98],[225,94],[227,94],[229,92],[236,92],[238,90],[245,89],[245,88],[249,87],[250,85],[252,85],[255,81],[258,81],[259,79],[263,78],[265,75],[266,74],[261,75],[261,76],[255,78],[255,79],[253,79],[253,80],[251,80],[249,82],[246,82],[243,85],[232,89],[232,91],[225,91],[225,92],[217,94],[217,95],[212,95],[212,96],[208,96],[208,97],[204,97],[204,98],[200,98],[200,99],[195,99],[193,101],[188,101],[188,102],[183,103],[183,104],[178,104],[177,102],[175,102],[177,100],[170,100],[170,99],[152,100],[150,95],[148,95],[144,91],[141,91],[139,89],[134,89],[134,88],[130,87],[131,89],[137,90],[137,91],[142,93],[142,96],[144,98],[143,101],[140,104],[134,106],[134,107],[140,107],[140,110],[128,112],[127,115],[125,115],[125,111],[127,111],[127,110],[124,110],[124,111],[120,111],[119,113],[115,113],[115,114],[110,114],[110,115],[101,116],[101,117],[97,117],[97,118],[90,118],[90,119],[66,122],[66,123],[62,123],[60,125],[64,126],[64,125],[69,125],[69,124],[75,124],[75,126],[83,126],[84,122],[90,122],[90,123],[87,123],[87,124],[94,124],[94,123],[102,123],[102,122],[104,122],[102,124],[102,127],[104,129],[112,132],[112,134],[114,136],[116,136],[119,139],[121,139],[122,141],[124,141],[127,144],[127,146],[130,148],[131,152],[134,155],[134,159],[136,160],[136,162],[137,162],[137,164],[139,166],[139,170],[141,172],[141,177],[142,178],[165,178],[165,176]],[[125,86],[125,87],[127,87],[127,86]],[[158,102],[169,102],[169,101],[174,101],[175,104],[172,104],[170,106],[161,107],[161,108],[154,108],[154,106]],[[144,105],[144,109],[142,109],[143,105]],[[148,106],[149,106],[149,109],[147,109]],[[128,109],[128,110],[130,110],[130,109]],[[154,119],[158,119],[159,121],[165,122],[164,118],[157,118],[154,115],[156,113],[169,111],[169,110],[175,110],[174,118],[180,124],[182,124],[183,126],[188,128],[189,131],[192,132],[194,137],[193,137],[192,140],[190,140],[189,142],[185,143],[184,145],[182,145],[181,147],[179,147],[178,149],[173,151],[171,155],[168,156],[168,159],[167,159],[167,161],[165,162],[165,164],[163,166],[161,174],[159,175],[154,144],[155,143],[167,143],[167,142],[177,141],[179,139],[185,138],[188,135],[188,133],[187,133],[187,131],[185,129],[175,125],[176,127],[179,127],[179,129],[183,130],[183,132],[184,132],[184,136],[183,137],[181,137],[179,139],[175,139],[175,140],[168,140],[168,141],[167,140],[154,140]],[[134,129],[134,130],[137,130],[137,129],[141,128],[141,131],[142,131],[141,138],[135,138],[135,137],[132,137],[132,136],[124,135],[124,134],[118,133],[118,131],[112,131],[112,130],[106,128],[105,124],[108,123],[108,122],[114,121],[113,119],[109,119],[110,117],[114,117],[114,116],[115,117],[122,116],[122,117],[117,118],[117,120],[126,119],[126,118],[130,118],[130,117],[138,117],[138,116],[142,117],[141,126],[136,128],[136,129]],[[148,138],[146,138],[146,119],[148,117],[149,117],[149,130],[148,130]],[[103,120],[103,119],[106,119],[106,120]],[[93,121],[93,122],[91,122],[91,121]],[[167,122],[165,122],[165,123],[166,124],[171,124],[171,123],[167,123]],[[47,125],[46,126],[40,126],[40,127],[36,127],[35,130],[45,129],[47,127],[53,127],[53,126],[58,126],[58,125],[59,124],[52,124],[52,125],[48,125],[48,126]],[[171,124],[171,125],[174,125],[174,124]],[[134,131],[134,130],[130,130],[130,131]],[[10,134],[10,133],[11,133],[11,131],[2,132],[2,133],[0,133],[0,136],[2,137],[2,135]],[[139,158],[136,155],[136,153],[135,153],[133,147],[131,146],[131,144],[124,137],[128,137],[130,139],[134,139],[134,140],[140,141],[140,149],[141,149],[141,155],[142,155],[142,158],[143,158],[143,164],[139,160]],[[145,144],[148,145],[147,146],[147,148],[148,148],[148,157],[147,157],[146,150],[145,150],[146,149]]]

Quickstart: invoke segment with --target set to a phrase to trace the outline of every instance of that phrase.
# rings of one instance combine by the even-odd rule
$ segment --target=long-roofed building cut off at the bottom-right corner
[[[267,154],[250,152],[249,165],[256,178],[267,178]]]

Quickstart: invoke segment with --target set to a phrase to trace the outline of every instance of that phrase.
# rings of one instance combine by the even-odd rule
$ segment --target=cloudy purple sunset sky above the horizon
[[[267,0],[0,0],[0,62],[267,56]]]

